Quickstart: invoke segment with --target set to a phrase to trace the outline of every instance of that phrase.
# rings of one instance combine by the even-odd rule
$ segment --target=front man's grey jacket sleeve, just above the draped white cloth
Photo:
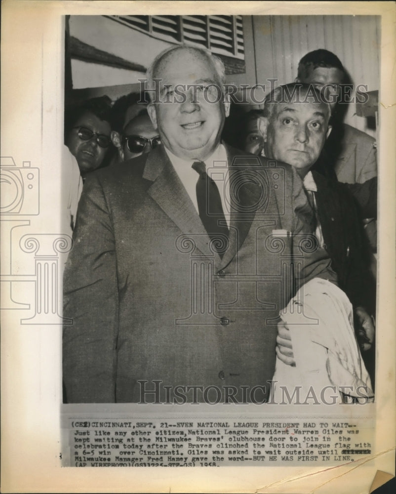
[[[327,251],[320,247],[315,236],[315,214],[308,202],[303,181],[292,167],[292,210],[293,214],[293,263],[295,290],[314,278],[328,280],[335,285],[337,275],[331,267]]]

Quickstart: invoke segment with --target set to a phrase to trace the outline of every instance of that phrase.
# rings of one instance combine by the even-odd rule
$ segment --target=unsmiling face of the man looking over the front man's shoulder
[[[304,177],[317,161],[331,130],[329,107],[309,102],[273,104],[270,119],[259,123],[264,132],[266,156],[294,166]]]

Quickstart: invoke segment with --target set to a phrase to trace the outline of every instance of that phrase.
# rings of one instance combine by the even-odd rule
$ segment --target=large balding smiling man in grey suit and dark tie
[[[66,399],[265,402],[279,310],[307,279],[336,280],[312,209],[293,167],[221,144],[219,59],[172,47],[148,81],[162,145],[91,173],[79,203]]]

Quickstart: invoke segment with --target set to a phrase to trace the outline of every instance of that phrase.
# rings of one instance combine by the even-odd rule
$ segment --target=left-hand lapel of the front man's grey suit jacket
[[[215,264],[219,265],[220,256],[209,250],[209,236],[162,146],[149,154],[143,178],[153,182],[148,194],[158,206],[187,237],[194,240],[196,247],[204,255],[214,257]]]

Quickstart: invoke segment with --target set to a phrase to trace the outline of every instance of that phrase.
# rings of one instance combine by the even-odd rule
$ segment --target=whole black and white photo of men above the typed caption
[[[66,403],[373,399],[379,18],[66,21]]]

